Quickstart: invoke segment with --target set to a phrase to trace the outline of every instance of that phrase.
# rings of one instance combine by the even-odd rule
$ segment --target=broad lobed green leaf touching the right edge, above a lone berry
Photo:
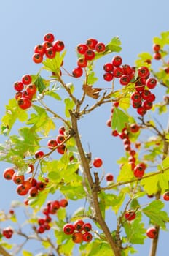
[[[165,228],[165,222],[169,221],[169,217],[166,211],[161,211],[165,204],[160,200],[154,200],[142,209],[143,213],[149,217],[151,222],[155,225]]]

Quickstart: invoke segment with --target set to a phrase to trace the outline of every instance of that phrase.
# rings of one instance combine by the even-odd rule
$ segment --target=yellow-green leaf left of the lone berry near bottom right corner
[[[141,213],[137,213],[137,217],[132,222],[125,222],[125,233],[127,235],[127,243],[144,244],[146,238],[146,229],[144,223],[141,222]]]

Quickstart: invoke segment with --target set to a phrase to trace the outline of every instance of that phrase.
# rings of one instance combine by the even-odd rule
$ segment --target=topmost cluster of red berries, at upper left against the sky
[[[35,63],[42,63],[44,56],[49,59],[53,59],[57,52],[60,52],[65,48],[63,41],[54,41],[55,37],[52,33],[44,35],[44,42],[42,42],[42,45],[36,45],[34,48],[34,55],[32,59]]]

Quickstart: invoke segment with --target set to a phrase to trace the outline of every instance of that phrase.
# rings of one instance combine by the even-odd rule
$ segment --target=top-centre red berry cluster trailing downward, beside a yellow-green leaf
[[[98,42],[98,40],[90,38],[84,44],[79,44],[76,47],[77,53],[81,56],[77,60],[77,66],[73,71],[72,75],[74,78],[79,78],[83,75],[84,67],[87,67],[88,61],[95,59],[95,52],[102,53],[106,50],[106,46],[103,42]]]

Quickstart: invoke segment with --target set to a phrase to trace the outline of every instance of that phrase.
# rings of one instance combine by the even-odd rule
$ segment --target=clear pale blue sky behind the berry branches
[[[65,42],[66,68],[70,72],[76,67],[74,50],[76,45],[90,37],[107,43],[118,35],[123,48],[120,54],[126,64],[133,65],[138,53],[152,52],[153,37],[169,30],[168,10],[167,0],[6,0],[1,2],[0,117],[4,114],[4,105],[15,94],[12,87],[15,80],[20,79],[25,73],[34,74],[38,71],[39,65],[33,63],[31,56],[34,45],[41,43],[43,35],[47,32],[51,31],[57,39]],[[103,79],[99,81],[99,85],[102,86],[102,83]],[[110,158],[115,161],[123,151],[120,148],[116,149],[117,144],[112,143],[109,129],[105,125],[106,118],[109,118],[109,108],[106,108],[106,112],[96,111],[95,118],[87,117],[86,121],[82,120],[80,125],[82,138],[86,147],[93,139],[90,148],[94,156],[100,155],[103,148],[111,152],[112,155],[102,156],[105,162],[109,162],[106,165],[109,167]],[[3,140],[1,137],[0,139]],[[2,164],[1,171],[4,167],[7,166]],[[1,183],[0,192],[3,193],[7,184],[5,181]],[[15,195],[15,189],[12,187],[7,193],[7,200],[0,203],[0,208],[9,207],[9,201],[14,199],[11,195]],[[159,244],[157,256],[165,255],[167,252],[167,236],[168,233],[162,233],[160,238],[162,243]],[[146,245],[141,248],[137,256],[148,255],[149,241],[146,241]]]

